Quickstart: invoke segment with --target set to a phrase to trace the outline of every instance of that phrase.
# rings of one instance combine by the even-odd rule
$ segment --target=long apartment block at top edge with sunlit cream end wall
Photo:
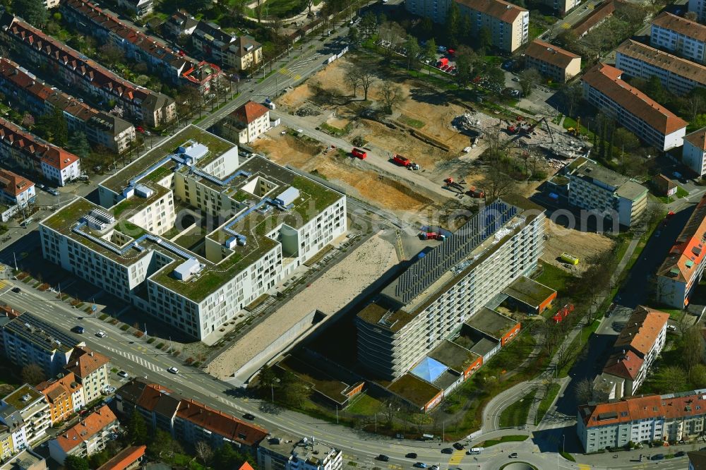
[[[504,0],[407,0],[405,6],[409,13],[444,23],[451,1],[455,1],[460,13],[471,20],[473,35],[478,35],[481,28],[489,30],[493,47],[514,52],[527,42],[530,11]]]

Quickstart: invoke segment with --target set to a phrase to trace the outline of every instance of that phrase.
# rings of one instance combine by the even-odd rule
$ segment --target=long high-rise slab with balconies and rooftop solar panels
[[[482,207],[358,313],[361,366],[385,380],[406,373],[537,267],[543,231],[544,209],[528,200]]]

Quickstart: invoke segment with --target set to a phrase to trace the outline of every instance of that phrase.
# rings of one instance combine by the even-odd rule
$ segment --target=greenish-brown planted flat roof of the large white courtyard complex
[[[208,152],[198,157],[193,165],[177,164],[182,159],[179,155],[185,154],[177,155],[176,152],[180,146],[187,143],[205,145],[208,147]],[[201,168],[213,162],[215,157],[224,155],[228,151],[233,152],[229,154],[233,158],[238,158],[239,165],[234,173],[225,179],[218,179],[201,171]],[[236,200],[237,206],[241,207],[225,219],[225,224],[207,234],[205,238],[224,244],[234,237],[233,232],[237,230],[238,234],[245,237],[246,244],[232,246],[225,258],[212,262],[183,247],[168,243],[160,236],[151,234],[143,227],[129,222],[128,217],[133,215],[135,211],[154,203],[155,200],[172,191],[156,181],[160,181],[173,171],[178,171],[184,175],[185,179],[192,179],[197,183],[217,188],[217,191]],[[258,186],[256,181],[258,179],[273,184],[273,189],[262,195],[255,195],[244,190],[246,186]],[[299,229],[344,197],[341,193],[305,176],[299,176],[259,155],[253,155],[249,159],[240,159],[234,144],[196,126],[185,128],[167,140],[166,143],[155,147],[148,154],[128,165],[123,171],[102,183],[102,186],[117,193],[122,193],[124,188],[128,186],[136,187],[138,185],[151,189],[152,194],[148,198],[140,197],[138,194],[132,195],[109,209],[99,207],[83,198],[77,198],[73,203],[44,219],[42,224],[121,265],[132,265],[151,253],[162,253],[172,261],[160,270],[153,272],[150,279],[197,302],[205,299],[215,289],[221,287],[222,284],[275,248],[278,242],[271,239],[268,234],[283,224]],[[297,188],[299,196],[287,207],[273,207],[273,199],[289,188]],[[267,211],[262,213],[260,208]],[[116,219],[114,230],[124,234],[130,240],[124,243],[124,239],[112,235],[96,240],[97,234],[91,231],[88,226],[82,227],[80,224],[82,217],[95,209],[100,209],[114,217]],[[235,228],[229,229],[229,226]],[[113,238],[123,244],[118,246]],[[179,280],[172,275],[172,272],[188,259],[198,260],[198,263],[203,267],[198,275],[193,275],[188,280]]]

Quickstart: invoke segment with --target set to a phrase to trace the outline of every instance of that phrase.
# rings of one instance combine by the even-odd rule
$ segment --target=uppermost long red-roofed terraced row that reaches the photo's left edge
[[[71,90],[91,95],[97,101],[114,100],[148,126],[161,126],[176,116],[177,106],[172,98],[120,78],[16,16],[0,16],[0,37],[13,52],[53,73]]]

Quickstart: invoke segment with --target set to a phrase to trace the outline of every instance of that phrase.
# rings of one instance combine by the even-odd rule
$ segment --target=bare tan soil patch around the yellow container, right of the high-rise
[[[544,233],[548,237],[544,241],[542,260],[561,267],[574,274],[587,270],[587,260],[600,253],[611,251],[616,241],[602,234],[578,229],[566,229],[561,225],[546,219]],[[561,253],[566,252],[579,259],[578,265],[569,265],[559,260]]]

